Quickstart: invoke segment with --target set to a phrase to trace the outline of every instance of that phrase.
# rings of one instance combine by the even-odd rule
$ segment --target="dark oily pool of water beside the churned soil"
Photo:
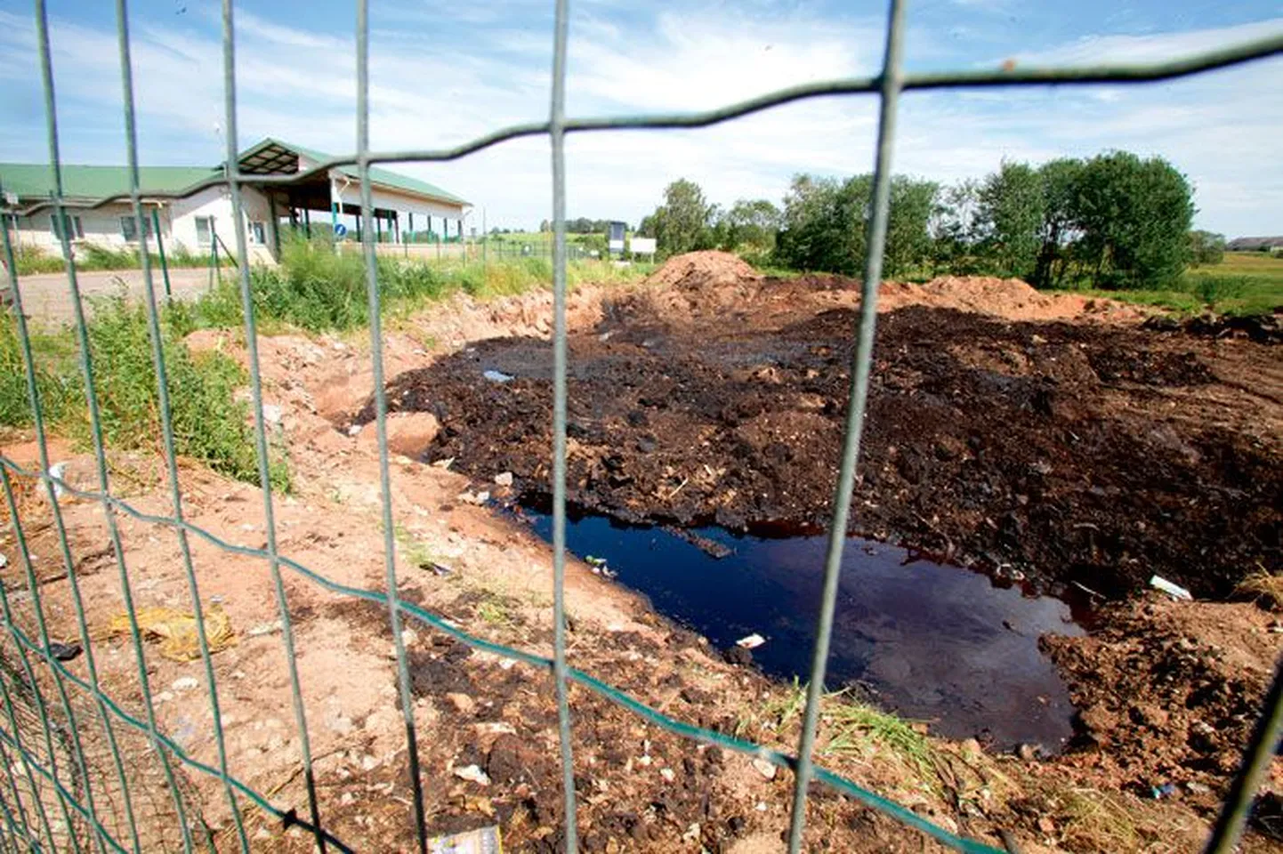
[[[552,536],[549,515],[523,510]],[[762,539],[721,528],[694,533],[727,546],[717,559],[656,527],[597,515],[571,518],[566,539],[580,557],[604,558],[618,581],[718,648],[757,632],[754,660],[772,676],[811,668],[824,574],[824,537]],[[1058,599],[996,587],[987,576],[903,549],[852,537],[829,655],[830,687],[860,681],[896,713],[939,735],[979,736],[1058,750],[1073,735],[1074,708],[1051,662],[1044,633],[1080,635]]]

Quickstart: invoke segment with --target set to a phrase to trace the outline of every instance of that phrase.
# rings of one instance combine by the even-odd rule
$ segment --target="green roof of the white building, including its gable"
[[[259,151],[269,145],[289,149],[302,154],[309,160],[322,162],[331,159],[331,155],[314,149],[305,149],[293,142],[267,138],[258,145],[245,149],[240,159]],[[359,178],[357,167],[339,167],[339,171],[350,178]],[[139,183],[142,195],[148,192],[178,192],[187,187],[222,174],[222,167],[140,167]],[[370,180],[385,187],[404,190],[425,196],[432,196],[441,201],[454,204],[468,204],[464,199],[441,190],[435,183],[411,178],[409,176],[370,167]],[[53,171],[46,163],[0,163],[0,191],[14,192],[19,199],[36,200],[49,199],[54,192]],[[104,199],[130,191],[128,168],[122,165],[80,165],[63,164],[63,195],[68,199]]]

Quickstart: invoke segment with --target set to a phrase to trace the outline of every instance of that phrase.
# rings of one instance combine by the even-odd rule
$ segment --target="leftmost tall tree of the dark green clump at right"
[[[1047,201],[1042,176],[1028,163],[1003,160],[979,191],[984,253],[997,272],[1029,276],[1042,246]]]

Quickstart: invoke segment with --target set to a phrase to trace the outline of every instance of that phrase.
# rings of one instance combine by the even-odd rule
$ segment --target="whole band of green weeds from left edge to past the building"
[[[644,276],[648,265],[616,267],[607,262],[575,262],[567,283],[626,281]],[[349,331],[368,323],[366,265],[361,253],[335,253],[323,240],[293,240],[282,246],[277,268],[251,271],[255,317],[264,331]],[[409,313],[450,294],[491,297],[520,294],[552,283],[547,258],[523,258],[484,265],[480,262],[425,264],[378,259],[378,285],[389,313]],[[100,408],[103,439],[113,449],[160,449],[160,403],[144,306],[123,296],[92,300],[90,351]],[[199,328],[239,331],[244,326],[240,290],[225,281],[191,303],[174,301],[162,312],[162,339],[168,373],[174,449],[214,471],[258,482],[258,463],[249,408],[236,399],[248,381],[231,358],[191,353],[182,339]],[[90,442],[85,385],[72,330],[31,330],[36,383],[46,424],[83,445]],[[17,321],[0,312],[0,430],[30,428],[26,367]],[[284,449],[273,446],[271,476],[289,489]]]

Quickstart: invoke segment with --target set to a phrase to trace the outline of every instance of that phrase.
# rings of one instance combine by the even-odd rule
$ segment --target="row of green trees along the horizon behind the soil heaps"
[[[783,206],[711,203],[675,181],[640,233],[661,255],[725,249],[783,267],[857,276],[863,268],[872,176],[799,174]],[[1191,231],[1193,188],[1162,158],[1109,151],[1042,165],[1003,162],[955,185],[894,176],[884,268],[1016,276],[1039,287],[1165,287],[1191,263],[1215,263],[1221,235]]]

